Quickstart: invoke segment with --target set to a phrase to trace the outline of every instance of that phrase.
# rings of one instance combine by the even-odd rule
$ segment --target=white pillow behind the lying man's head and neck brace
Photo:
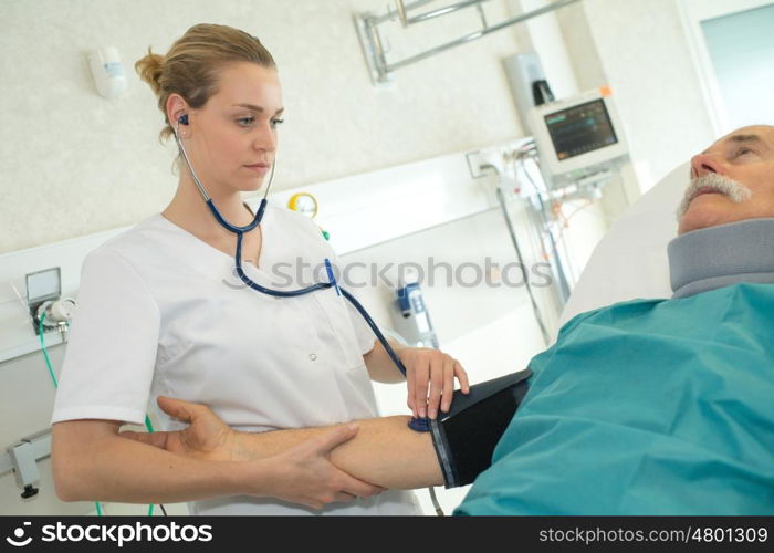
[[[669,298],[667,244],[677,236],[677,207],[690,182],[686,163],[648,190],[610,227],[594,249],[562,312],[578,313],[637,298]]]

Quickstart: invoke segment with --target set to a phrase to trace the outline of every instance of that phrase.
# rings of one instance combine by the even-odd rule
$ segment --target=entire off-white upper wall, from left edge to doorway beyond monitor
[[[498,0],[488,11],[494,20],[541,1]],[[157,140],[161,114],[132,66],[149,45],[165,52],[200,21],[241,27],[278,60],[287,107],[278,189],[523,134],[501,58],[533,45],[529,25],[399,70],[379,88],[352,15],[383,10],[381,0],[4,0],[0,253],[132,225],[166,205],[174,153]],[[552,76],[565,92],[613,86],[644,189],[713,138],[679,0],[583,0],[555,17],[572,67]],[[389,29],[391,55],[475,24],[470,15],[441,19],[420,32]],[[105,45],[118,49],[129,77],[119,100],[102,98],[90,74],[86,52]]]

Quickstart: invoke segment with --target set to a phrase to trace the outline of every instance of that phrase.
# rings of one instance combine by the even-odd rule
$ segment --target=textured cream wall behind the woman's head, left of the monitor
[[[3,0],[0,2],[0,253],[132,225],[171,198],[163,115],[133,65],[199,22],[259,36],[276,59],[286,107],[276,189],[472,149],[522,134],[501,58],[506,30],[400,70],[368,76],[353,15],[384,0]],[[498,19],[501,0],[489,2]],[[459,18],[457,18],[459,15]],[[470,32],[474,12],[386,29],[400,59]],[[113,45],[126,95],[101,97],[86,52]]]

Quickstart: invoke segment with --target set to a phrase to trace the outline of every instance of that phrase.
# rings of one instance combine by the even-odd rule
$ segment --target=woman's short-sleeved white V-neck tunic
[[[333,250],[308,219],[266,209],[257,283],[295,290],[323,280]],[[234,237],[236,241],[236,237]],[[324,272],[324,270],[323,270]],[[242,431],[323,426],[378,416],[363,354],[374,336],[333,289],[275,299],[247,288],[233,259],[160,213],[92,252],[54,405],[73,419],[178,429],[159,395],[207,404]],[[314,514],[276,500],[220,498],[196,514]],[[334,503],[324,514],[418,514],[414,494]]]

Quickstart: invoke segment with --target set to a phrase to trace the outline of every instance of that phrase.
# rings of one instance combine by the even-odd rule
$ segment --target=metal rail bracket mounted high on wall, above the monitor
[[[556,0],[550,4],[546,4],[536,10],[523,13],[521,15],[506,19],[495,24],[490,24],[487,21],[487,17],[483,12],[482,4],[488,0],[466,0],[457,2],[454,4],[444,6],[443,8],[438,8],[425,13],[412,14],[411,11],[431,3],[433,0],[418,0],[411,3],[404,3],[404,0],[395,0],[396,10],[388,10],[387,13],[383,15],[374,15],[372,13],[359,13],[355,15],[355,25],[357,28],[357,33],[360,39],[360,45],[363,46],[363,53],[366,58],[366,63],[368,64],[368,71],[370,73],[372,82],[374,84],[384,84],[391,80],[393,72],[410,65],[426,58],[430,58],[439,52],[449,50],[453,46],[459,46],[460,44],[466,44],[468,42],[474,41],[487,34],[500,31],[506,27],[511,27],[522,21],[548,13],[551,11],[557,10],[571,3],[577,2],[578,0]],[[400,21],[404,28],[421,23],[423,21],[429,21],[431,19],[440,18],[449,13],[475,7],[481,18],[481,30],[474,31],[472,33],[466,34],[457,40],[446,42],[439,46],[432,48],[425,52],[420,52],[416,55],[411,55],[404,60],[390,62],[387,60],[387,49],[385,48],[385,38],[379,31],[379,27],[384,23],[390,21]]]

